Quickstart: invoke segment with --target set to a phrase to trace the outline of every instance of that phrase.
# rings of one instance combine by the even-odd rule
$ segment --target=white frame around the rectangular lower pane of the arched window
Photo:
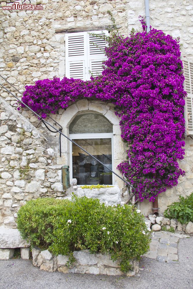
[[[108,133],[108,134],[70,134],[69,138],[71,140],[76,139],[93,139],[93,138],[111,138],[111,151],[112,151],[112,170],[114,168],[114,148],[113,148],[113,133]],[[84,147],[83,147],[84,149]],[[70,171],[70,179],[72,179],[72,142],[70,142],[70,166],[69,166],[69,171]],[[115,175],[112,173],[112,184],[115,185]],[[83,185],[81,185],[83,186]],[[88,185],[89,186],[89,185]]]

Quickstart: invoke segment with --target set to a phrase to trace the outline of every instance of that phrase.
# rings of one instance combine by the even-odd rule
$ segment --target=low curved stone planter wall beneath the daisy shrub
[[[89,273],[102,275],[126,275],[135,276],[139,270],[139,262],[130,261],[131,271],[123,273],[120,271],[120,263],[113,262],[110,255],[91,254],[89,250],[74,251],[73,256],[76,261],[68,266],[68,256],[53,256],[48,250],[32,248],[33,265],[40,267],[40,270],[55,272],[58,270],[63,273]]]

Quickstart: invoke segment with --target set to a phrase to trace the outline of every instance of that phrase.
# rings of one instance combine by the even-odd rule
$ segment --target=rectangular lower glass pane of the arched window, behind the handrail
[[[111,138],[74,139],[112,170]],[[112,185],[112,173],[75,144],[72,144],[72,174],[77,185]]]

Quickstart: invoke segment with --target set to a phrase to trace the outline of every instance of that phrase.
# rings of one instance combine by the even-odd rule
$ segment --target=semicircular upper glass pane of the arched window
[[[105,116],[98,113],[79,114],[69,126],[70,134],[104,134],[112,132],[113,125]]]

